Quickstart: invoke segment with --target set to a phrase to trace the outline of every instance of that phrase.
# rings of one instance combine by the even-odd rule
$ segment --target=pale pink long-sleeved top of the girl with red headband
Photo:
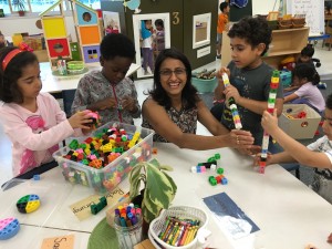
[[[14,103],[0,106],[3,131],[12,142],[13,176],[51,162],[52,153],[59,149],[58,144],[74,135],[65,113],[53,96],[40,93],[37,104],[35,113]]]

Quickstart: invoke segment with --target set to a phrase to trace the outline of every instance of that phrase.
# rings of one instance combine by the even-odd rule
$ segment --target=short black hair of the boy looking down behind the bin
[[[135,46],[132,40],[122,33],[110,33],[101,42],[101,54],[108,61],[115,56],[135,59]]]

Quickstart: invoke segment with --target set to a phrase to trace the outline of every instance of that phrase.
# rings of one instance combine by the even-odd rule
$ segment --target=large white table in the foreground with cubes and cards
[[[320,249],[331,247],[325,240],[332,231],[332,206],[279,165],[269,166],[266,174],[261,175],[253,170],[250,157],[241,156],[229,148],[195,152],[180,149],[173,144],[156,144],[156,158],[174,167],[174,172],[169,173],[178,186],[174,205],[196,206],[209,214],[211,247],[220,248],[222,245],[225,249],[303,249],[308,243]],[[207,160],[215,153],[221,155],[220,165],[229,180],[226,186],[210,186],[209,173],[189,172],[191,166]],[[127,180],[122,183],[122,188],[128,189]],[[221,232],[201,199],[221,191],[256,222],[259,231],[237,241]],[[27,194],[39,195],[42,206],[35,212],[21,215],[14,205]],[[91,232],[104,218],[104,211],[79,221],[69,206],[92,194],[90,188],[64,181],[60,168],[54,168],[43,174],[40,183],[27,181],[0,193],[0,218],[14,216],[25,225]],[[44,237],[52,236],[45,231]]]

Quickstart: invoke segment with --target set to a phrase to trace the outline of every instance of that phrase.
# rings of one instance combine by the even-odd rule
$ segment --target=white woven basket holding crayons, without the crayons
[[[194,248],[196,248],[197,243],[198,243],[197,236],[195,237],[195,239],[191,242],[189,242],[186,246],[181,246],[181,247],[170,246],[158,238],[159,232],[166,225],[166,218],[168,216],[180,217],[184,219],[200,220],[200,225],[199,225],[199,229],[198,229],[197,234],[199,232],[199,230],[201,228],[206,227],[206,225],[208,222],[207,214],[204,210],[195,208],[195,207],[175,206],[175,207],[170,207],[167,210],[163,210],[162,214],[159,215],[159,217],[154,219],[151,222],[149,229],[148,229],[148,238],[149,238],[151,242],[155,246],[155,248],[160,249],[160,246],[166,249],[178,249],[178,248],[194,249]]]

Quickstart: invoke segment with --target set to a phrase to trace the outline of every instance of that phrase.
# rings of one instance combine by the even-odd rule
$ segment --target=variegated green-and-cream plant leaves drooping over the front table
[[[165,170],[173,168],[153,159],[138,163],[129,173],[131,199],[134,204],[137,199],[142,203],[143,219],[146,224],[158,217],[163,208],[167,209],[175,197],[176,184]],[[142,190],[141,183],[144,184]]]

